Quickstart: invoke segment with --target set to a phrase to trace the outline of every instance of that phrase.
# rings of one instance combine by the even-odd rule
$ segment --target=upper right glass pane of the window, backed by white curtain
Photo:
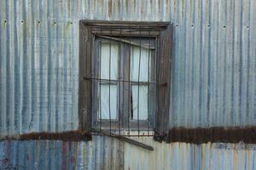
[[[150,71],[150,60],[148,65],[148,57],[150,55],[150,50],[147,48],[131,48],[131,81],[148,82],[148,71]],[[138,74],[140,75],[139,79]]]

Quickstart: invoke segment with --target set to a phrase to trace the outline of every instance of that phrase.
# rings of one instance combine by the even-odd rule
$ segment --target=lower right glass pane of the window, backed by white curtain
[[[138,96],[139,87],[139,96]],[[148,86],[132,85],[132,120],[148,120]],[[139,98],[138,98],[139,97]],[[139,99],[139,100],[138,100]],[[139,107],[138,107],[139,106]],[[139,108],[139,109],[138,109]],[[139,116],[137,116],[139,114]]]

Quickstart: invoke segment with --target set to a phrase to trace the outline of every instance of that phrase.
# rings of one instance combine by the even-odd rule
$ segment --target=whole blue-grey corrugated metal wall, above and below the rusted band
[[[255,125],[255,9],[255,0],[2,0],[0,134],[58,132],[78,127],[82,19],[173,23],[170,127]],[[103,137],[70,146],[59,141],[1,142],[0,167],[8,161],[12,162],[10,166],[21,169],[54,169],[62,164],[71,169],[108,169],[124,164],[113,156],[117,150],[125,156],[126,169],[205,169],[209,162],[212,169],[253,169],[256,165],[254,145],[254,149],[236,150],[239,144],[235,144],[233,150],[214,149],[211,144],[159,144],[144,140],[157,148],[151,155],[127,144],[119,149],[124,146]],[[72,156],[77,156],[75,163],[62,163],[65,159],[73,160]],[[159,161],[151,161],[155,158]],[[109,160],[113,160],[111,165]]]

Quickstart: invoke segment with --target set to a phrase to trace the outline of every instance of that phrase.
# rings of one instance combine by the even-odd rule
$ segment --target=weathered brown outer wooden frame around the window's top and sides
[[[120,29],[122,31],[120,31]],[[134,22],[80,20],[79,22],[79,129],[92,127],[92,57],[96,36],[154,37],[156,41],[157,96],[154,129],[167,132],[170,107],[172,24],[169,22]]]

